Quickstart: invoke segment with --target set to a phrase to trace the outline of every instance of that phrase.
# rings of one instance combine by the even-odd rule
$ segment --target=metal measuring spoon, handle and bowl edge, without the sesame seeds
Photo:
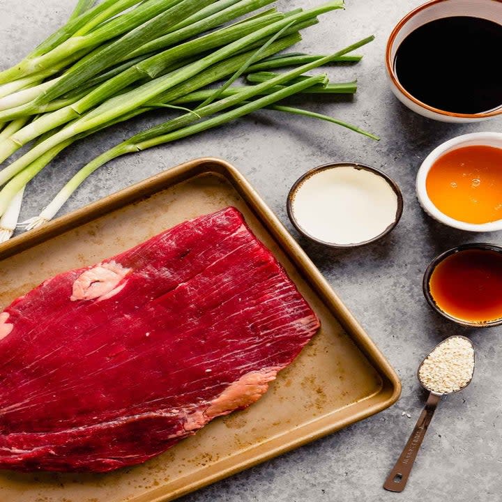
[[[397,459],[397,462],[393,470],[390,471],[390,474],[386,479],[386,482],[383,483],[383,487],[389,490],[390,492],[402,492],[406,487],[406,482],[408,482],[408,478],[411,473],[411,469],[415,462],[416,456],[418,454],[418,450],[420,450],[420,445],[422,444],[422,441],[425,437],[425,433],[427,432],[427,427],[429,427],[429,423],[431,423],[432,416],[434,416],[434,411],[436,411],[436,406],[439,404],[439,400],[441,400],[441,397],[443,395],[455,394],[459,392],[459,390],[463,390],[464,388],[466,388],[466,386],[469,385],[469,383],[471,383],[473,379],[476,360],[473,360],[473,372],[471,374],[471,379],[467,381],[467,383],[465,383],[465,385],[462,388],[459,388],[458,390],[454,390],[449,393],[438,393],[430,388],[427,388],[425,383],[423,383],[423,381],[420,379],[420,369],[425,363],[425,360],[427,360],[427,358],[432,354],[432,352],[434,352],[438,347],[440,347],[448,340],[451,340],[452,338],[464,338],[464,340],[467,340],[474,350],[473,344],[471,340],[469,340],[469,338],[460,335],[455,335],[446,338],[446,340],[443,340],[443,342],[437,344],[436,347],[434,347],[434,349],[432,349],[432,351],[430,351],[427,354],[427,356],[425,356],[422,363],[420,363],[420,366],[418,367],[417,371],[418,381],[420,381],[420,385],[423,386],[425,390],[428,390],[430,394],[429,397],[427,398],[427,402],[425,403],[425,408],[423,409],[420,417],[418,418],[418,422],[416,423],[416,426],[413,429],[413,432],[411,433],[411,436],[408,442],[406,443],[406,446],[404,446],[404,450],[402,451],[401,456],[399,457],[399,459]]]

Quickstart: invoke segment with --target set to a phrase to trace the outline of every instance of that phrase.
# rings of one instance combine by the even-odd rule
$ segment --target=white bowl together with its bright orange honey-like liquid
[[[502,133],[450,139],[423,161],[418,201],[432,218],[466,231],[502,230]]]

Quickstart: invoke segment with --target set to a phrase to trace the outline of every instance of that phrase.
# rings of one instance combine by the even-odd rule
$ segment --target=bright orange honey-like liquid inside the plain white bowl
[[[476,145],[445,153],[427,174],[426,188],[432,204],[454,220],[501,220],[502,149]]]

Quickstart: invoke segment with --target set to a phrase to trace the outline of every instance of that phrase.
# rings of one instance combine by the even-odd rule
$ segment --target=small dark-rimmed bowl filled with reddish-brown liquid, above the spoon
[[[427,267],[423,291],[429,305],[462,326],[502,324],[502,246],[464,244]]]

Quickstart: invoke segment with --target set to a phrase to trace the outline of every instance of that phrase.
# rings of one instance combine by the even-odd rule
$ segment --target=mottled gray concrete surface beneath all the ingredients
[[[0,66],[18,61],[59,26],[73,3],[0,0]],[[282,8],[319,3],[278,2]],[[363,423],[187,496],[184,502],[501,500],[500,328],[465,330],[443,321],[429,310],[421,292],[423,271],[434,255],[465,242],[501,243],[501,234],[467,234],[432,221],[418,206],[414,181],[421,160],[437,144],[466,132],[501,130],[502,121],[468,126],[436,123],[409,112],[392,96],[383,67],[386,38],[397,20],[419,3],[348,0],[347,10],[324,16],[299,45],[301,50],[326,53],[371,33],[377,36],[361,50],[365,54],[362,63],[329,70],[334,81],[358,77],[360,87],[352,102],[325,98],[305,106],[368,128],[381,135],[381,142],[328,123],[261,112],[178,144],[111,162],[64,208],[71,211],[162,169],[206,155],[236,165],[291,230],[285,211],[287,192],[311,167],[358,160],[383,169],[402,188],[404,215],[386,241],[360,250],[332,251],[299,239],[400,374],[400,401]],[[155,121],[158,117],[150,115],[114,128],[61,155],[29,186],[22,217],[37,214],[84,160]],[[476,378],[464,393],[441,403],[406,492],[384,492],[382,482],[424,404],[425,395],[415,377],[417,365],[429,349],[453,334],[471,335],[475,342]]]

